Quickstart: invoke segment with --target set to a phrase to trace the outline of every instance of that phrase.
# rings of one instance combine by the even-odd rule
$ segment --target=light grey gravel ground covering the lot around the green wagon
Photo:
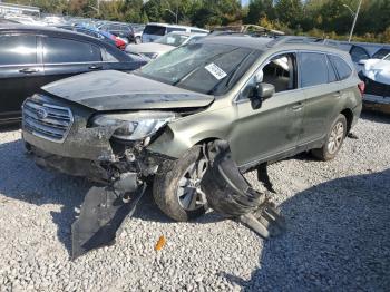
[[[20,130],[1,132],[0,291],[389,291],[390,117],[365,114],[353,133],[333,162],[270,166],[287,223],[280,237],[213,212],[174,223],[148,196],[116,245],[72,262],[74,208],[90,185],[39,169]]]

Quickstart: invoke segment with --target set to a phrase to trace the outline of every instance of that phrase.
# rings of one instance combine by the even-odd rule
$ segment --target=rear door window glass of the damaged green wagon
[[[316,52],[300,53],[301,87],[328,84],[326,56]]]

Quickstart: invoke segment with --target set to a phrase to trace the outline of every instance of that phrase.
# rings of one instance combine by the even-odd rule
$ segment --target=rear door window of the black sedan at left
[[[45,40],[43,62],[94,62],[101,61],[100,49],[81,41],[47,38]]]

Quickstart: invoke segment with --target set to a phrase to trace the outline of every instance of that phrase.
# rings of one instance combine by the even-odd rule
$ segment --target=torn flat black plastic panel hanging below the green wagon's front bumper
[[[113,187],[91,187],[85,197],[80,216],[71,225],[72,259],[90,250],[114,244],[124,220],[133,216],[145,189],[144,184],[126,202]]]

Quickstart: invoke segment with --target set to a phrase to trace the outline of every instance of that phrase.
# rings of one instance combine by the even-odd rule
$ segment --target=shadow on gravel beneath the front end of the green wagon
[[[57,237],[64,244],[69,255],[71,253],[71,224],[84,202],[92,183],[81,177],[40,169],[26,155],[21,139],[0,144],[0,203],[7,203],[9,198],[19,199],[37,206],[48,204],[59,205],[59,211],[50,211],[52,223],[57,225]],[[42,210],[46,212],[47,210]],[[172,224],[155,204],[152,195],[152,186],[146,189],[144,197],[138,203],[133,217],[143,221]],[[195,223],[205,224],[223,220],[215,213],[207,213]]]

